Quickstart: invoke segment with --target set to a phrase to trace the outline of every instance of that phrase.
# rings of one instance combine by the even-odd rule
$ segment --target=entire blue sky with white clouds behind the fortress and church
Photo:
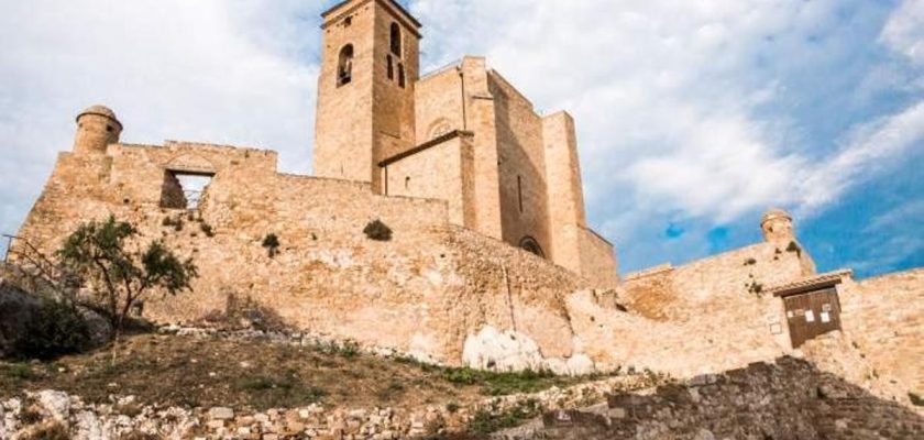
[[[620,272],[761,240],[790,210],[821,271],[924,266],[924,0],[409,0],[421,65],[484,55],[578,124]],[[0,232],[109,106],[122,141],[279,152],[309,174],[334,1],[0,0]]]

